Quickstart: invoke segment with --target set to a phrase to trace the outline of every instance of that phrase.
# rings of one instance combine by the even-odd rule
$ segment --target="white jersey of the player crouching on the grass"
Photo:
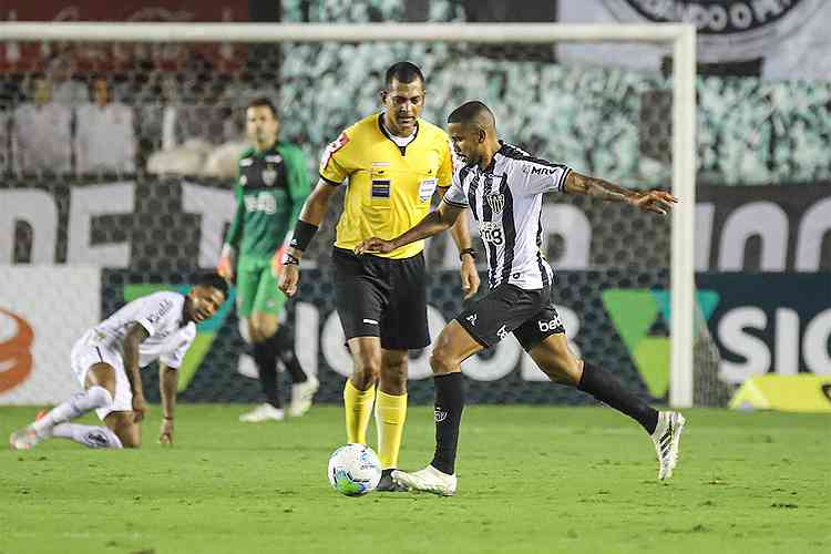
[[[160,359],[167,367],[178,368],[196,338],[193,321],[182,325],[184,305],[185,296],[178,293],[155,293],[137,298],[101,321],[93,329],[95,339],[121,351],[129,328],[138,324],[150,334],[138,349],[138,366],[143,368]]]

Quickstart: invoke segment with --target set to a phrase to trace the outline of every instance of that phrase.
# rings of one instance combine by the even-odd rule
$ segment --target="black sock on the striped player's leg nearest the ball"
[[[452,475],[455,473],[455,451],[459,425],[464,410],[464,377],[459,371],[434,376],[435,454],[430,465]]]

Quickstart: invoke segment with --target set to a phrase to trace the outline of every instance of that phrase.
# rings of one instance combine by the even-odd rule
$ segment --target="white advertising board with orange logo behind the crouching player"
[[[81,390],[70,350],[101,315],[101,270],[0,265],[0,404],[52,404]]]

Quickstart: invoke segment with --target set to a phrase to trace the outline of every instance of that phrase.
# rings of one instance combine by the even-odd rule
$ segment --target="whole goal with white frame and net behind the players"
[[[669,71],[562,63],[560,49],[573,43],[658,49]],[[0,28],[0,264],[100,267],[96,317],[158,287],[184,289],[215,266],[250,100],[278,105],[280,140],[300,146],[314,176],[327,143],[379,110],[386,69],[410,60],[427,76],[425,120],[444,126],[453,107],[478,99],[502,138],[535,155],[680,197],[668,218],[547,197],[543,248],[558,273],[555,304],[586,359],[644,397],[720,402],[718,350],[696,316],[691,27],[14,23]],[[340,398],[350,371],[332,314],[338,198],[332,206],[290,310],[324,401]],[[447,237],[430,242],[428,263],[435,336],[462,306]],[[37,294],[20,291],[34,297],[27,309],[52,309]],[[253,365],[233,311],[201,327],[184,400],[257,398],[239,377]],[[519,346],[504,342],[466,362],[474,401],[583,401],[537,382]],[[412,353],[416,401],[432,398],[427,360]]]

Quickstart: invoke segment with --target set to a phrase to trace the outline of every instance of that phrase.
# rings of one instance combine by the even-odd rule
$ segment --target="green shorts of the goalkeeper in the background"
[[[286,295],[277,288],[271,274],[271,259],[242,256],[237,263],[237,315],[248,318],[252,314],[279,316],[286,305]]]

